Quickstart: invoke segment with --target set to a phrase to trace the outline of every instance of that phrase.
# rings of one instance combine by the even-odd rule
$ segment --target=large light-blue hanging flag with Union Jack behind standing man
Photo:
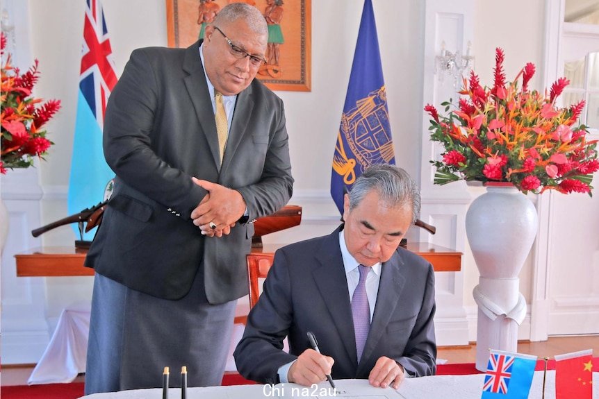
[[[114,177],[102,151],[106,101],[117,83],[113,65],[112,49],[100,0],[87,0],[67,201],[69,214],[81,212],[101,202],[106,183]],[[73,227],[77,232],[76,226]],[[93,232],[89,232],[85,239],[91,239],[92,234]]]

